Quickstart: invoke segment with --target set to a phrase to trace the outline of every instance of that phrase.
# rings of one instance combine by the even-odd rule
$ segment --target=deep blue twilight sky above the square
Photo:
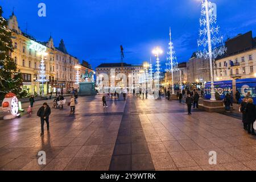
[[[38,4],[46,4],[46,17],[38,16]],[[217,24],[224,40],[252,30],[256,34],[255,0],[212,0],[217,4]],[[55,47],[64,40],[68,53],[93,68],[119,62],[124,48],[126,63],[155,61],[151,50],[160,46],[166,60],[169,27],[177,60],[187,61],[197,51],[200,0],[0,0],[3,16],[13,11],[22,31],[36,40],[52,35]],[[27,25],[26,25],[27,24]]]

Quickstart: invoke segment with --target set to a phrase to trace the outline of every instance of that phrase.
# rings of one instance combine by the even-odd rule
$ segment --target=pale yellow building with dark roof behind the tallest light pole
[[[228,51],[216,59],[214,80],[256,77],[256,38],[252,32],[228,39],[225,46]]]

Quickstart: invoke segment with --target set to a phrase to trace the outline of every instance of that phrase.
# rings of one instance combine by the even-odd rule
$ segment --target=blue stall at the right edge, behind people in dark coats
[[[253,102],[256,104],[256,78],[236,80],[236,89],[241,93],[240,102],[245,98],[247,92],[250,92],[253,97]]]

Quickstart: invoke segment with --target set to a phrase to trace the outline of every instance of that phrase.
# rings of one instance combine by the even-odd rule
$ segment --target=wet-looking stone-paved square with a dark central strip
[[[88,96],[79,97],[75,114],[67,105],[52,109],[50,133],[40,137],[42,103],[31,116],[0,120],[1,170],[256,170],[256,137],[237,117],[188,115],[177,101],[133,96],[107,98],[104,108],[101,96]],[[42,150],[46,165],[38,164]],[[216,165],[209,151],[217,152]]]

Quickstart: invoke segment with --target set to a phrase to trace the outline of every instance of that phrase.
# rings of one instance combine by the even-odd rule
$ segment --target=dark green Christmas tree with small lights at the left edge
[[[18,97],[24,94],[20,89],[22,73],[17,71],[16,64],[10,56],[13,52],[11,31],[7,28],[7,21],[2,13],[0,6],[0,100],[9,92],[15,93]]]

